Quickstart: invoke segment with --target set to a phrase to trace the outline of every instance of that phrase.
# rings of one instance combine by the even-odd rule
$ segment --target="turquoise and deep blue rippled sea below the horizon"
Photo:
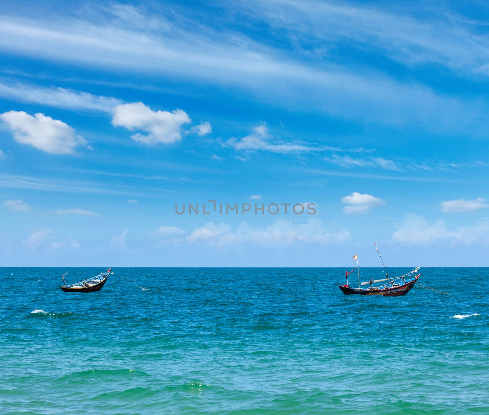
[[[489,413],[489,268],[395,298],[342,268],[114,268],[89,294],[64,271],[0,268],[1,414]]]

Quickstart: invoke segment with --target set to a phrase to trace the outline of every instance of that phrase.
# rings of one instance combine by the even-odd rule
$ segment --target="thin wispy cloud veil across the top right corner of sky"
[[[368,47],[409,67],[437,64],[462,76],[489,74],[489,40],[482,34],[487,23],[443,7],[434,13],[430,8],[423,17],[407,8],[316,0],[246,1],[242,7],[272,29],[280,28],[306,54],[317,54],[318,45],[348,42],[349,49]]]

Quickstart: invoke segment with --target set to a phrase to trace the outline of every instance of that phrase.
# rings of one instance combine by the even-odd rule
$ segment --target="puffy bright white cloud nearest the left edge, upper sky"
[[[14,139],[21,144],[32,145],[50,154],[74,154],[75,147],[86,145],[85,138],[59,119],[41,113],[34,116],[24,111],[8,111],[0,114]]]

